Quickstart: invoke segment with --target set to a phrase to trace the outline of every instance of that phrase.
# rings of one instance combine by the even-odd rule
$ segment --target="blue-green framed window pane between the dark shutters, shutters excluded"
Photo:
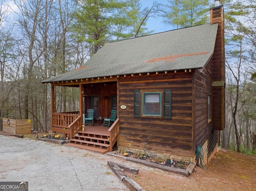
[[[143,93],[143,114],[160,116],[160,98],[161,93]]]

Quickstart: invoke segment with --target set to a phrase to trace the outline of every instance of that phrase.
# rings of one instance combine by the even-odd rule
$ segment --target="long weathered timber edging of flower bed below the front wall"
[[[158,168],[158,169],[161,169],[161,170],[164,170],[164,171],[173,172],[173,173],[181,174],[181,175],[184,175],[184,176],[189,176],[192,173],[194,167],[196,166],[194,163],[190,163],[186,170],[185,169],[178,169],[178,168],[175,168],[175,167],[164,166],[164,165],[160,165],[160,164],[150,162],[150,161],[145,161],[145,160],[136,159],[136,158],[132,158],[132,157],[120,156],[120,155],[117,155],[116,152],[118,152],[118,151],[109,152],[107,154],[110,155],[110,156],[117,157],[117,158],[125,159],[126,161],[131,161],[131,162],[134,162],[134,163],[140,163],[140,164],[146,165],[148,167]]]

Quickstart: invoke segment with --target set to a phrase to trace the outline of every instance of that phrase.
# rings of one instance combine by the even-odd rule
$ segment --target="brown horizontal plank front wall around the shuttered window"
[[[193,157],[192,72],[120,77],[118,146]],[[172,119],[134,118],[134,90],[172,89]],[[145,143],[145,145],[144,145]]]

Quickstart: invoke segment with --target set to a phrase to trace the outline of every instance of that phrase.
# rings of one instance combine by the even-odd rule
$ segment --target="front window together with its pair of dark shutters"
[[[172,90],[142,93],[139,90],[134,91],[134,117],[171,119]]]

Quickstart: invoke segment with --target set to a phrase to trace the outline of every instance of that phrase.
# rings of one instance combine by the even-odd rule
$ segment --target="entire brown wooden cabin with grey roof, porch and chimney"
[[[116,143],[194,161],[202,146],[207,162],[225,120],[223,15],[217,6],[209,24],[107,43],[82,67],[42,81],[52,87],[51,130],[70,134],[72,146],[101,153]],[[79,111],[54,111],[60,86],[79,87]],[[89,108],[95,124],[82,132]],[[110,128],[96,124],[113,109]]]

